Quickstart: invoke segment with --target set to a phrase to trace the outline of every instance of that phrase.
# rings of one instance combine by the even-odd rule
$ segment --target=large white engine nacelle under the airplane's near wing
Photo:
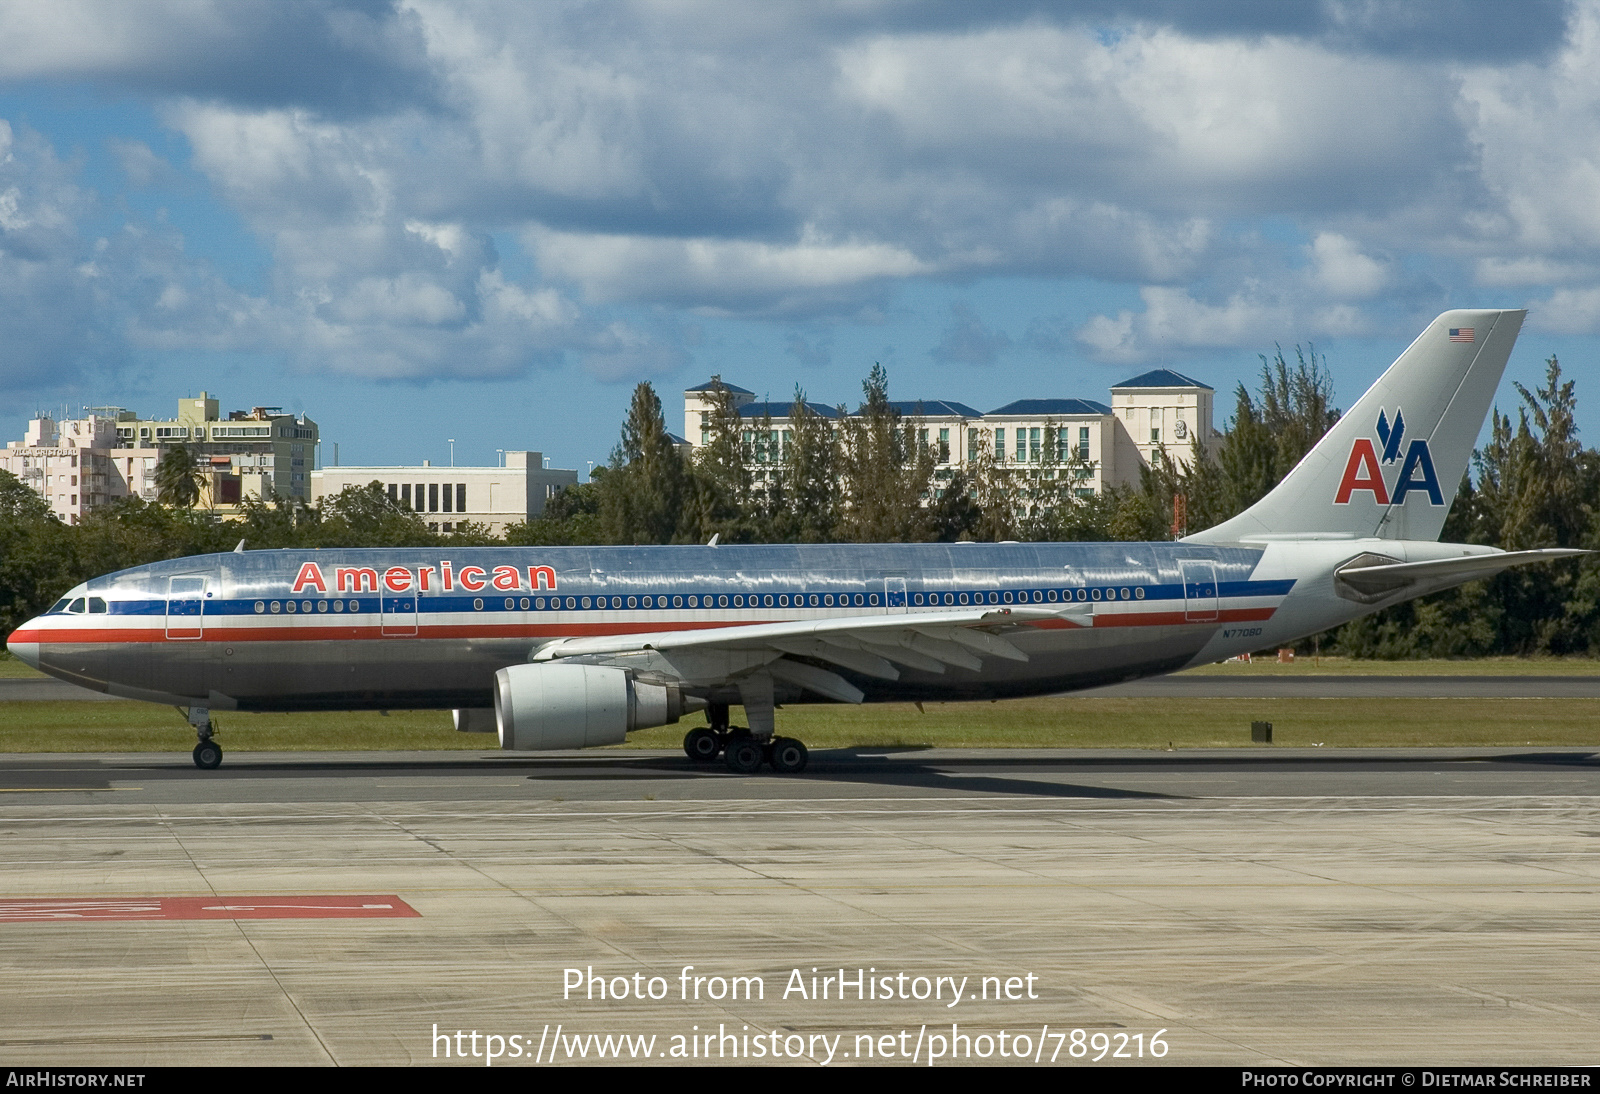
[[[563,662],[510,665],[494,673],[501,749],[539,752],[621,744],[629,731],[667,726],[704,701],[677,685],[642,683],[626,669]]]

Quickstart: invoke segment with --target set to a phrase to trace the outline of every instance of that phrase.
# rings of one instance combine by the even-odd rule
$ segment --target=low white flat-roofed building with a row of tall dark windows
[[[322,467],[312,473],[317,504],[346,486],[381,483],[397,502],[421,513],[430,531],[456,531],[467,521],[504,534],[507,525],[533,520],[557,493],[578,483],[576,470],[544,465],[541,453],[507,451],[504,467]]]

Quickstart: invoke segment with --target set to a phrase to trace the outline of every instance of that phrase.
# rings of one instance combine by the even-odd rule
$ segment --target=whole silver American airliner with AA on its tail
[[[797,702],[1067,693],[1286,646],[1578,550],[1442,544],[1526,312],[1434,320],[1275,489],[1174,542],[243,550],[96,577],[8,648],[94,691],[214,710],[453,710],[501,749],[618,744],[803,771]],[[730,726],[742,705],[749,726]]]

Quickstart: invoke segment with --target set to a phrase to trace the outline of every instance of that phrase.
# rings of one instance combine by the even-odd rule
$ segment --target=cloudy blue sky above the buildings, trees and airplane
[[[0,5],[0,438],[608,459],[634,385],[1106,401],[1526,307],[1600,432],[1600,0]]]

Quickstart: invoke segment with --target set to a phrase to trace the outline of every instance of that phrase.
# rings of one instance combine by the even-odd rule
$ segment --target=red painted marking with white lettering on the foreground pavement
[[[40,897],[0,899],[0,923],[85,920],[410,920],[397,896]]]

